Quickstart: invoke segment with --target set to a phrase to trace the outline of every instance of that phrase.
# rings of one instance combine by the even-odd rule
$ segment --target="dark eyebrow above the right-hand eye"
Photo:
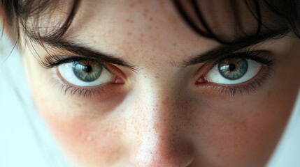
[[[187,67],[189,65],[204,63],[209,60],[222,58],[224,56],[234,53],[234,51],[245,49],[247,47],[251,47],[253,45],[266,42],[268,40],[283,38],[289,32],[290,30],[284,29],[281,31],[268,31],[266,33],[262,33],[261,35],[257,35],[255,37],[241,38],[232,45],[220,45],[220,47],[206,51],[203,54],[192,56],[192,58],[188,58],[187,60],[183,61],[183,63],[181,63],[180,66]]]

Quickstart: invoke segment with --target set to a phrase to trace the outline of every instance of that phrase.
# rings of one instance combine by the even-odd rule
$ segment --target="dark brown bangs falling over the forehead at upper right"
[[[299,36],[299,18],[292,14],[298,12],[297,8],[288,8],[299,6],[297,1],[173,0],[173,3],[195,33],[224,45],[266,35],[286,35],[290,31]]]

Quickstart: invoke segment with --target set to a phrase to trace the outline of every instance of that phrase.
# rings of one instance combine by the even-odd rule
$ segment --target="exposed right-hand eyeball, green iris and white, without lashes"
[[[234,85],[249,81],[262,69],[262,63],[243,57],[225,58],[205,76],[215,84]]]

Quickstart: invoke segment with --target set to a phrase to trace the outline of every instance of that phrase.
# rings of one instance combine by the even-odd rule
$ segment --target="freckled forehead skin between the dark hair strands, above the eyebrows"
[[[176,58],[215,45],[191,31],[171,1],[83,1],[72,27],[80,41],[117,55]]]

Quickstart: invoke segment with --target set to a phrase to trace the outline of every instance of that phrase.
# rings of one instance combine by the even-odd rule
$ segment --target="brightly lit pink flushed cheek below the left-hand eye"
[[[52,101],[53,102],[53,101]],[[84,166],[108,166],[122,154],[120,131],[113,121],[85,116],[64,115],[64,110],[49,103],[37,103],[52,134],[62,146],[66,157]],[[73,111],[73,109],[69,109]],[[85,111],[89,111],[85,108]],[[59,114],[60,113],[60,114]]]

